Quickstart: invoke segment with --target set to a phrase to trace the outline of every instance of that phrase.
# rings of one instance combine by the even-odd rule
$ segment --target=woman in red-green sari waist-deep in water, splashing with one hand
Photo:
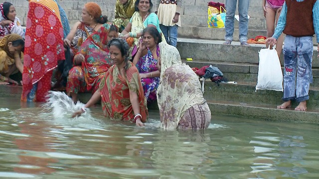
[[[108,43],[108,48],[114,65],[105,74],[100,88],[84,108],[73,114],[73,117],[81,115],[86,108],[102,99],[101,104],[106,117],[143,126],[143,122],[148,118],[148,108],[139,71],[129,61],[130,46],[125,40],[115,38]]]

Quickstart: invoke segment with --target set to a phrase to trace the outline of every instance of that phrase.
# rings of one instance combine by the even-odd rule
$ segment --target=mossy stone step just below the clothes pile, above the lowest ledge
[[[223,84],[219,86],[209,80],[205,81],[204,98],[206,100],[221,100],[239,103],[267,104],[273,107],[281,104],[283,92],[274,90],[257,90],[256,83]],[[319,88],[311,88],[310,99],[307,101],[309,109],[319,110]],[[293,106],[296,102],[293,102]]]

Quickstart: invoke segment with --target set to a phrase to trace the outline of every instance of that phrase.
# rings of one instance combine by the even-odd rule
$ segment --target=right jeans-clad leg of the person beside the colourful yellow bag
[[[250,0],[238,0],[239,41],[245,46],[249,46],[249,44],[247,44],[249,1]]]

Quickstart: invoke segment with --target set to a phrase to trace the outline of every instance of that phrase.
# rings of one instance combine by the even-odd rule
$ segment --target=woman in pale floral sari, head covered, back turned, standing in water
[[[197,75],[182,64],[178,50],[160,43],[160,85],[157,91],[161,127],[205,129],[211,119]]]

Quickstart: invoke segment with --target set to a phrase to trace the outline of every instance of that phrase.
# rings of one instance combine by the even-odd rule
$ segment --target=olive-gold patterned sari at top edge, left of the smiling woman
[[[130,22],[130,19],[135,12],[135,1],[128,0],[125,4],[120,3],[119,0],[115,4],[115,19],[114,25],[119,27],[119,32],[122,32]]]

